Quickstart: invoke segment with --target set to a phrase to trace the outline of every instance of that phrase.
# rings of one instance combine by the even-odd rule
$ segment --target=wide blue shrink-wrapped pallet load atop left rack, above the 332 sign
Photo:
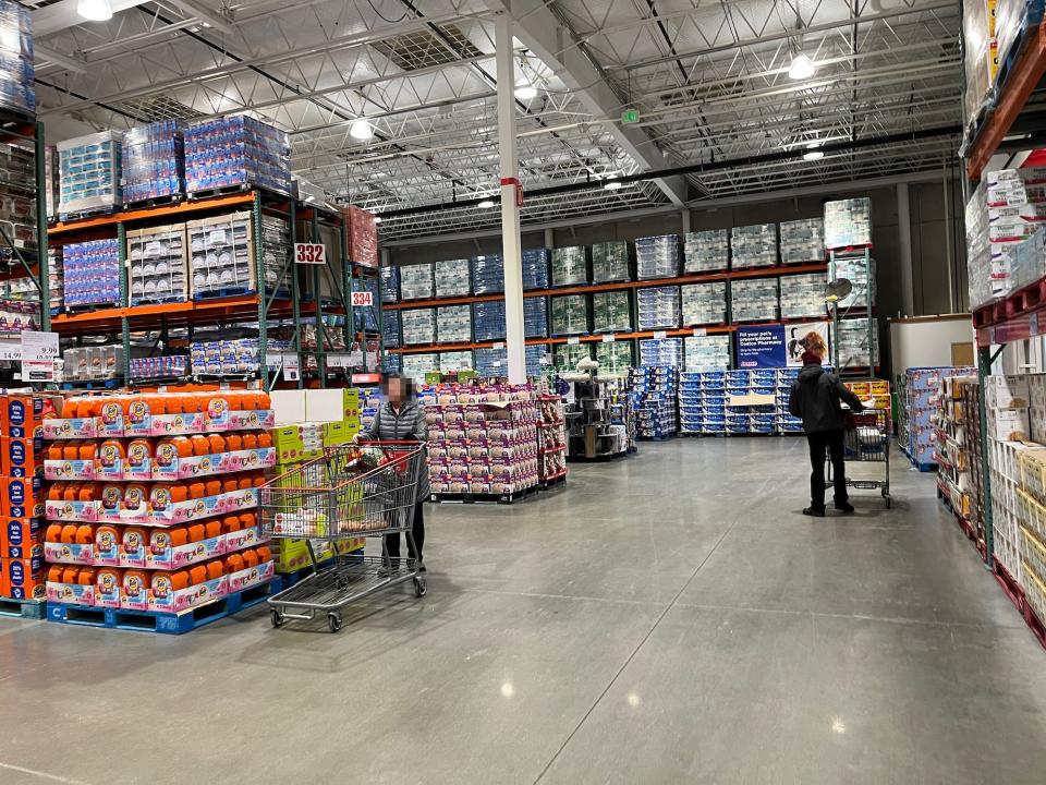
[[[185,188],[199,193],[253,185],[290,193],[290,154],[287,134],[254,118],[202,120],[185,129]]]

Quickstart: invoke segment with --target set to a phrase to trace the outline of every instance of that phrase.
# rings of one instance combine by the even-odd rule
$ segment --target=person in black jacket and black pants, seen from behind
[[[825,515],[825,450],[831,455],[831,473],[835,480],[836,509],[853,512],[847,494],[846,463],[843,461],[842,433],[846,421],[839,401],[853,411],[862,411],[861,399],[847,389],[835,374],[820,366],[820,354],[807,349],[803,352],[803,370],[792,383],[788,409],[792,416],[803,419],[803,431],[810,444],[810,507],[803,515]]]

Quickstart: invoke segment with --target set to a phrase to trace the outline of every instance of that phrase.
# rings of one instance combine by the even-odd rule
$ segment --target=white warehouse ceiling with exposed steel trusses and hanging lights
[[[299,177],[386,214],[387,240],[500,220],[475,206],[500,177],[497,13],[516,21],[518,86],[536,88],[516,100],[524,228],[940,170],[958,144],[954,1],[110,3],[83,24],[76,0],[25,3],[45,122],[251,113],[290,134]],[[814,73],[794,78],[800,56]]]

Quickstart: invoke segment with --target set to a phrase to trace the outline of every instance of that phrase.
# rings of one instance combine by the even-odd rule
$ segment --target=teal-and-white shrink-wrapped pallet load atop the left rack
[[[120,133],[102,131],[58,145],[60,215],[111,210],[122,204],[120,141]]]

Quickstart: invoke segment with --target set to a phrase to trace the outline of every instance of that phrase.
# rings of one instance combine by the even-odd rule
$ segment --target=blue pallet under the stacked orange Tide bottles
[[[134,630],[136,632],[182,635],[265,602],[266,597],[269,596],[271,582],[259,583],[258,585],[244,589],[242,592],[236,592],[235,594],[226,594],[215,602],[200,605],[181,614],[48,603],[47,620],[80,625],[83,627],[106,627],[109,629]]]

